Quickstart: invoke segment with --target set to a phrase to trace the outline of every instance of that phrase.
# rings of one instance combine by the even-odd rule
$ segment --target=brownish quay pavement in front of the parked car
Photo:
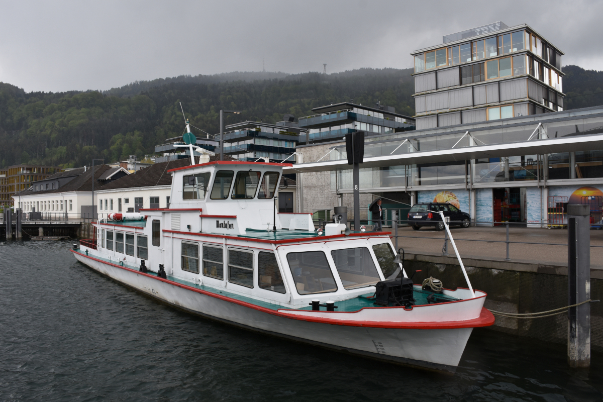
[[[391,228],[384,228],[391,231]],[[507,256],[507,231],[504,225],[496,227],[451,227],[450,232],[455,239],[456,247],[463,259],[486,259],[504,261]],[[412,230],[411,227],[398,229],[398,247],[404,248],[406,253],[441,256],[444,245],[444,231],[435,228],[423,227]],[[484,241],[464,241],[484,240]],[[518,244],[510,243],[509,256],[511,262],[539,263],[542,265],[567,266],[567,229],[563,228],[526,228],[509,227],[510,242],[531,242],[546,244]],[[394,242],[394,239],[392,239]],[[395,244],[395,243],[394,243]],[[590,248],[590,266],[603,268],[603,230],[590,230],[590,245],[601,246]],[[454,257],[455,253],[450,241],[448,254]]]

